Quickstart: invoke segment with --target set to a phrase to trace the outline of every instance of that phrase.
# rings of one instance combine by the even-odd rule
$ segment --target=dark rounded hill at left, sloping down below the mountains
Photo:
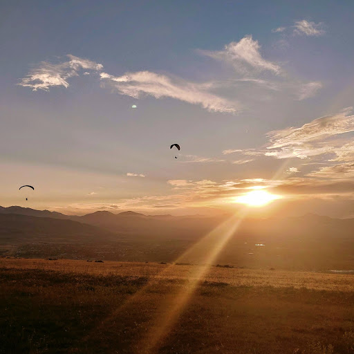
[[[77,221],[0,214],[0,254],[21,257],[81,258],[81,249],[104,248],[115,236],[99,227]]]

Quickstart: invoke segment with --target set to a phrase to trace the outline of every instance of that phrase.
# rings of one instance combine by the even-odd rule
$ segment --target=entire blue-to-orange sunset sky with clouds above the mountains
[[[353,11],[1,1],[0,205],[354,217]]]

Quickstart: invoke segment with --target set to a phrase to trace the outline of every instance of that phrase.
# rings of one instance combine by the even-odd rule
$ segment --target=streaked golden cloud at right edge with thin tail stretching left
[[[268,156],[277,159],[288,158],[317,158],[305,165],[330,165],[330,171],[344,171],[339,167],[332,167],[331,162],[353,162],[354,142],[348,140],[345,133],[354,132],[354,115],[351,115],[353,108],[348,107],[333,115],[326,115],[317,118],[301,127],[290,127],[278,131],[270,131],[267,135],[270,138],[268,144],[259,149],[226,149],[224,155],[239,154],[251,156],[251,158],[239,159],[234,164],[250,162],[254,158]],[[321,156],[321,157],[320,157]],[[321,158],[321,160],[318,160]],[[326,162],[324,162],[326,161]],[[347,168],[347,165],[344,165]],[[321,169],[321,174],[328,172],[328,169]],[[285,173],[298,173],[297,167],[290,167]],[[310,174],[307,176],[319,176]]]

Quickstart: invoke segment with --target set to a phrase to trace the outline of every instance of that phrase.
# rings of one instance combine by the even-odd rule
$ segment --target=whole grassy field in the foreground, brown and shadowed
[[[354,276],[0,259],[0,353],[354,353]]]

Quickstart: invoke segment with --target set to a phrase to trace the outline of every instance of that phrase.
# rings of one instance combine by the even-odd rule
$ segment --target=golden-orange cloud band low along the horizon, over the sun
[[[345,168],[345,167],[344,167]],[[346,167],[347,176],[351,176],[353,167]],[[333,176],[332,171],[324,170],[319,178],[317,174],[307,178],[290,177],[286,180],[274,180],[265,178],[249,178],[234,180],[169,180],[168,185],[171,186],[171,193],[167,195],[140,196],[136,198],[120,199],[119,203],[91,203],[91,204],[73,204],[65,207],[74,213],[82,214],[85,212],[93,212],[97,209],[114,211],[120,210],[137,210],[137,211],[153,211],[156,208],[205,208],[225,207],[225,203],[230,205],[230,201],[234,197],[240,196],[252,189],[267,189],[270,193],[281,194],[286,198],[292,199],[313,199],[313,198],[337,198],[338,196],[348,196],[353,193],[354,182],[353,176],[343,180],[340,178],[331,178],[326,180],[326,174]],[[53,207],[52,209],[60,209]]]

